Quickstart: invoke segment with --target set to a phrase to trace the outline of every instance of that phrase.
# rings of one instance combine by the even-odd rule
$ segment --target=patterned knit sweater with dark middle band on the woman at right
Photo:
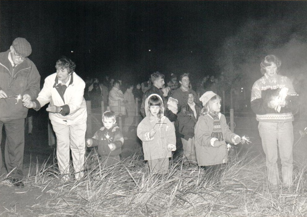
[[[280,109],[280,112],[268,107],[268,102],[276,97],[281,88],[288,88],[286,97],[286,106]],[[251,92],[251,108],[256,113],[256,119],[264,122],[288,122],[293,121],[293,115],[297,112],[298,94],[293,88],[291,80],[282,75],[276,74],[269,77],[264,74],[263,77],[255,81]]]

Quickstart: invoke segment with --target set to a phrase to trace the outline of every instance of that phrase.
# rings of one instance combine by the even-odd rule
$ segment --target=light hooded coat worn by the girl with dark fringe
[[[157,96],[161,99],[162,105],[160,109],[164,110],[162,98],[158,94],[151,94],[146,98],[144,105],[146,117],[137,126],[137,136],[142,140],[145,160],[171,157],[172,152],[167,150],[167,145],[176,145],[174,124],[164,115],[162,115],[161,121],[158,117],[150,115],[148,100],[152,96]],[[149,138],[149,131],[153,127],[155,127],[156,133],[152,138]]]

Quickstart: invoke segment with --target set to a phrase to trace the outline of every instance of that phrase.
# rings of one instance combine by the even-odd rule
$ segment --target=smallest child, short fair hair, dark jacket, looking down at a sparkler
[[[103,164],[108,167],[120,161],[121,147],[124,138],[116,124],[113,111],[105,111],[102,115],[103,127],[95,132],[92,138],[86,140],[87,147],[98,146],[98,153]]]

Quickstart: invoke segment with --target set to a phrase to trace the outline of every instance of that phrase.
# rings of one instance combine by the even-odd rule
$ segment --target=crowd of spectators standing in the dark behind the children
[[[150,94],[155,93],[162,97],[166,107],[166,117],[173,123],[177,119],[181,106],[186,105],[189,93],[193,94],[197,105],[200,105],[199,97],[206,91],[211,90],[222,95],[219,80],[214,76],[204,76],[199,81],[191,82],[187,73],[177,76],[174,73],[164,75],[156,72],[144,81],[108,76],[86,77],[85,83],[84,98],[86,101],[91,101],[91,113],[96,115],[95,120],[99,121],[102,111],[109,108],[124,121],[125,134],[128,133],[129,127],[136,127],[137,123],[144,118],[142,102]],[[137,110],[135,106],[138,107]],[[139,115],[136,115],[136,111],[139,111]]]

